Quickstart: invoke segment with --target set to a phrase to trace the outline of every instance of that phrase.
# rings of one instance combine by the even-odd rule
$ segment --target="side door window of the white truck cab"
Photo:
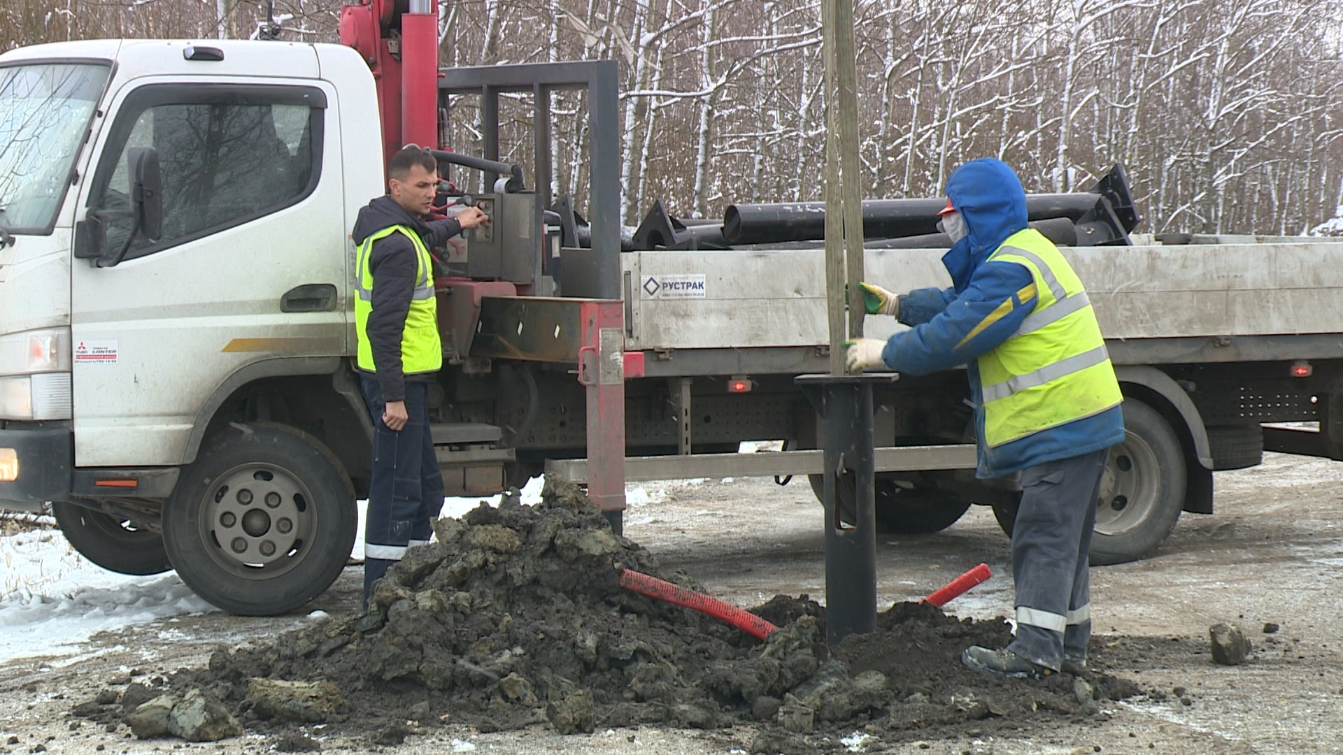
[[[136,238],[128,259],[269,215],[301,200],[316,183],[320,106],[265,97],[239,102],[236,87],[211,98],[210,87],[201,89],[204,97],[153,93],[168,101],[134,109],[128,98],[113,126],[90,200],[105,219],[109,249],[120,249],[133,227],[129,214],[118,212],[129,210],[128,152],[154,148],[163,173],[163,236]]]

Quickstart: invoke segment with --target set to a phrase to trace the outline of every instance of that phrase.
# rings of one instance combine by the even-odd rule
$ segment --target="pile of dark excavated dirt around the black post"
[[[776,596],[753,609],[779,626],[757,641],[623,590],[622,568],[696,586],[612,535],[573,486],[548,488],[537,506],[481,505],[435,533],[379,582],[365,615],[220,650],[207,669],[132,685],[134,700],[107,691],[75,712],[142,736],[219,739],[242,725],[286,748],[314,723],[371,746],[441,723],[564,734],[659,724],[751,725],[752,751],[803,752],[841,747],[854,731],[902,742],[1082,720],[1140,692],[1095,672],[1044,682],[976,674],[962,649],[1001,646],[1007,626],[928,605],[898,603],[876,633],[830,649],[823,607]],[[204,734],[188,727],[197,721]]]

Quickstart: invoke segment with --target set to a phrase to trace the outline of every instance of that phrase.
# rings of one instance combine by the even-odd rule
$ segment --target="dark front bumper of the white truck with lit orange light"
[[[70,498],[74,434],[52,425],[0,422],[0,508],[36,512]]]

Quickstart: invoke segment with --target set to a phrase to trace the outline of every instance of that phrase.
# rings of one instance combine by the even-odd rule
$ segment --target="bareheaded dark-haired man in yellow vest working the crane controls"
[[[428,387],[443,365],[430,249],[486,222],[477,207],[426,222],[438,161],[408,145],[387,165],[388,193],[360,208],[355,255],[356,365],[373,420],[373,469],[364,519],[364,606],[373,583],[411,545],[428,543],[443,508],[430,435]]]

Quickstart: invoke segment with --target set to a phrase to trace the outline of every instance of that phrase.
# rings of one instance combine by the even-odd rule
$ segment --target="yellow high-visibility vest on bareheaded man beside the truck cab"
[[[434,259],[424,247],[424,240],[414,228],[389,226],[359,245],[355,254],[355,332],[359,335],[357,364],[360,369],[377,372],[373,364],[373,348],[368,341],[368,316],[373,312],[373,273],[369,258],[373,242],[392,234],[403,234],[415,250],[415,290],[411,306],[406,313],[406,329],[402,332],[402,372],[435,372],[443,367],[443,345],[438,335],[438,300],[434,296]]]

